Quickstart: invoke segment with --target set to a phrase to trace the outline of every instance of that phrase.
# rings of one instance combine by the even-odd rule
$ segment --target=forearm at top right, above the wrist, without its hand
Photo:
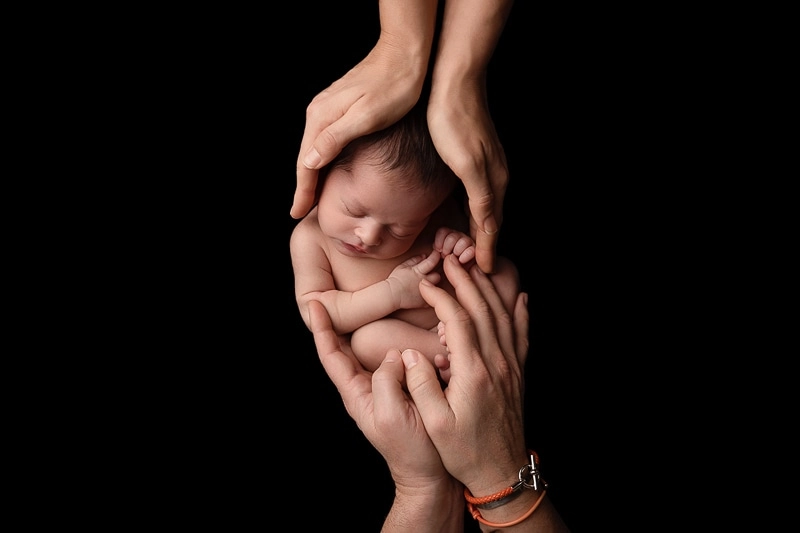
[[[482,79],[513,0],[446,0],[433,86]]]

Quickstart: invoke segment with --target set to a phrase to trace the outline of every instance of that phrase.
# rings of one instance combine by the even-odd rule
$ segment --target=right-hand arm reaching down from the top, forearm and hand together
[[[489,114],[486,76],[513,3],[445,2],[428,103],[436,150],[467,190],[475,259],[486,273],[494,271],[508,183],[505,152]]]

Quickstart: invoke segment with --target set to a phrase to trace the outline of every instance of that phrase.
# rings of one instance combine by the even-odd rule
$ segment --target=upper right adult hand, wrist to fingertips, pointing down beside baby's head
[[[434,85],[428,103],[428,128],[436,150],[461,178],[469,197],[470,235],[475,260],[494,271],[497,239],[503,223],[508,163],[489,114],[482,81],[447,80]]]

